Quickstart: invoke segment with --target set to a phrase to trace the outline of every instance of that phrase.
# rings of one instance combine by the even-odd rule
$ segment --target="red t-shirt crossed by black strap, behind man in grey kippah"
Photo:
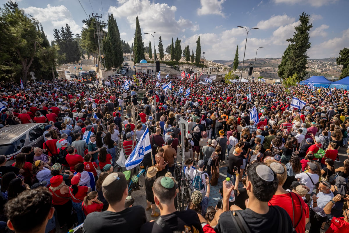
[[[294,211],[292,211],[292,201],[290,194],[292,195],[293,199],[293,208]],[[294,222],[295,224],[298,223],[300,217],[302,216],[303,211],[303,216],[302,219],[300,220],[299,224],[296,227],[296,232],[297,233],[304,233],[305,231],[305,219],[309,218],[309,207],[305,204],[303,201],[302,197],[298,196],[294,192],[290,192],[288,194],[279,194],[279,195],[274,195],[272,199],[268,202],[268,205],[278,205],[286,212],[289,214],[291,217],[291,221],[293,223],[293,212],[295,213],[295,219]],[[299,199],[298,199],[299,198]]]

